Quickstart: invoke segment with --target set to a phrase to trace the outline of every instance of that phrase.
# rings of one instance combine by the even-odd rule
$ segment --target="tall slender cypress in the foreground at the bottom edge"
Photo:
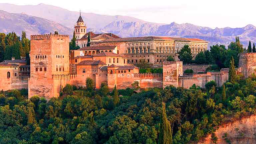
[[[160,120],[159,144],[172,144],[171,124],[167,120],[164,102],[162,102],[162,115],[161,115],[161,120]]]

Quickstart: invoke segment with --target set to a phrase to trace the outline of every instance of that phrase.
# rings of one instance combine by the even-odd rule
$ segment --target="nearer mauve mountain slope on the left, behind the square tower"
[[[14,31],[21,35],[24,30],[27,36],[49,34],[50,32],[54,33],[54,31],[58,31],[61,34],[73,34],[73,29],[47,19],[0,10],[0,32],[9,33]]]

